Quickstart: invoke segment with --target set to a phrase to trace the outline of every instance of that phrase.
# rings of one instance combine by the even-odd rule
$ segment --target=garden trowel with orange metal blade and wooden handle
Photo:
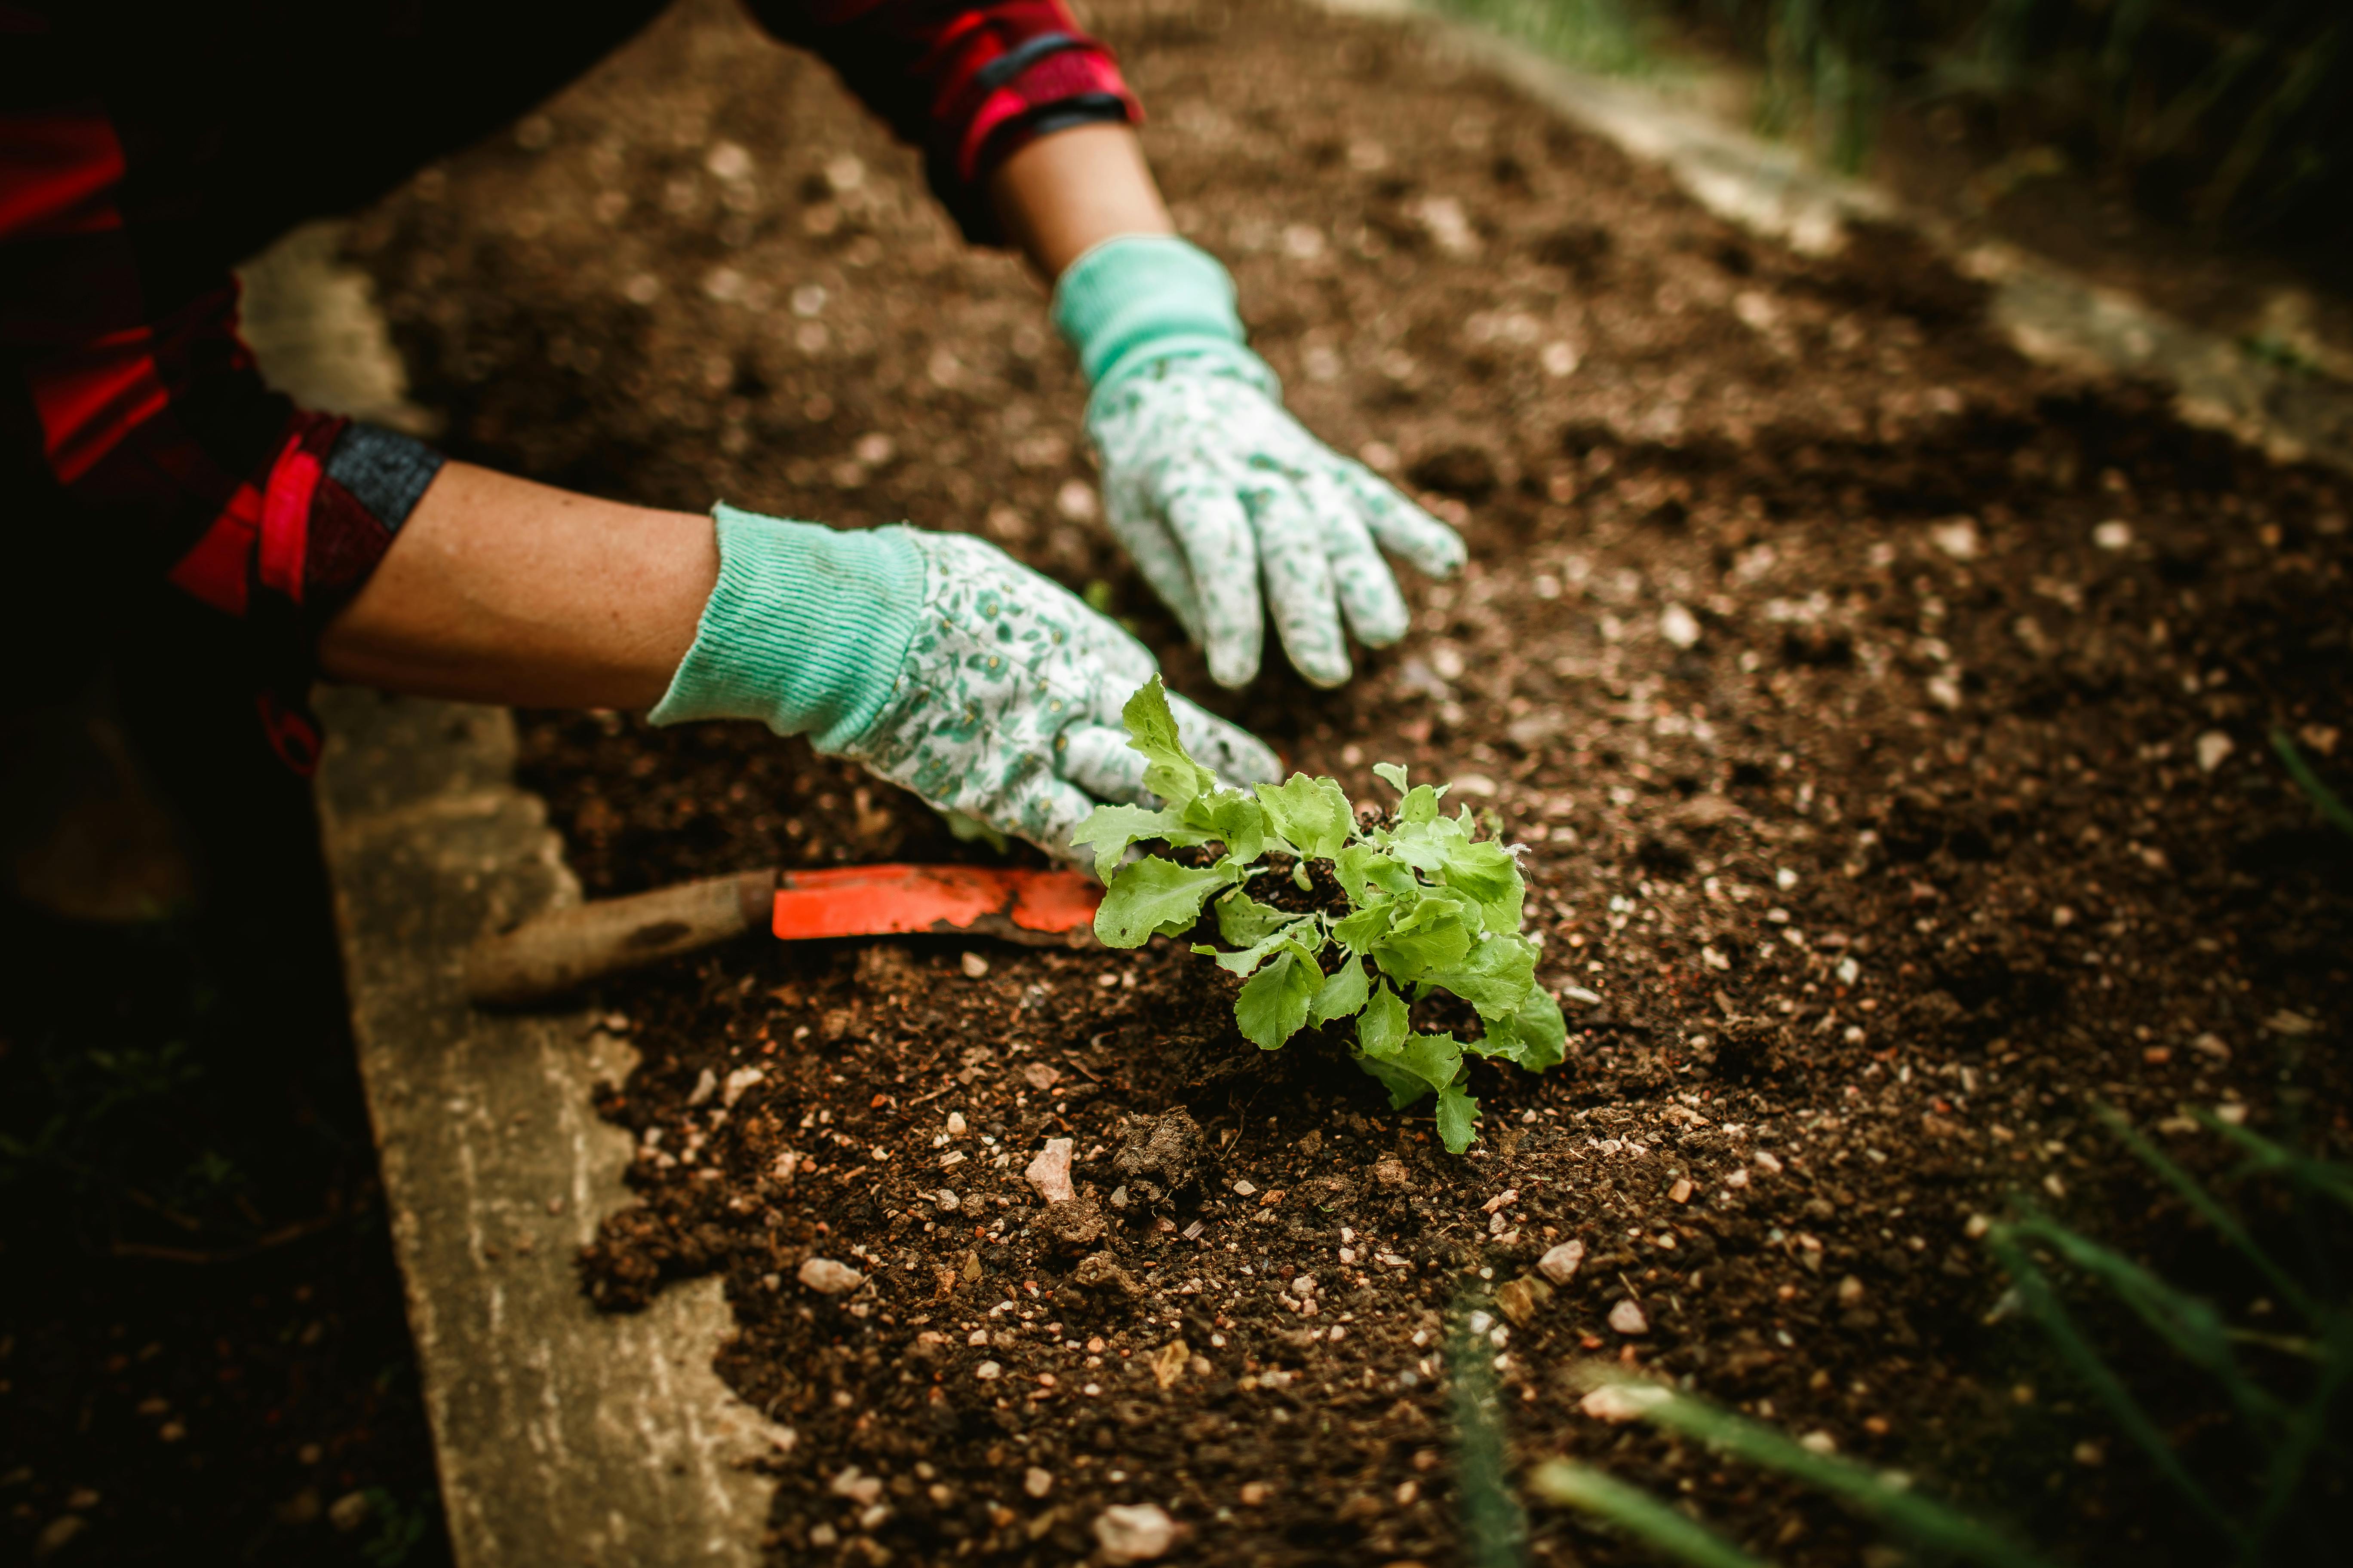
[[[466,997],[520,1006],[591,980],[758,931],[819,936],[993,936],[1085,947],[1104,889],[1087,872],[993,865],[842,865],[741,872],[551,910],[466,954]]]

